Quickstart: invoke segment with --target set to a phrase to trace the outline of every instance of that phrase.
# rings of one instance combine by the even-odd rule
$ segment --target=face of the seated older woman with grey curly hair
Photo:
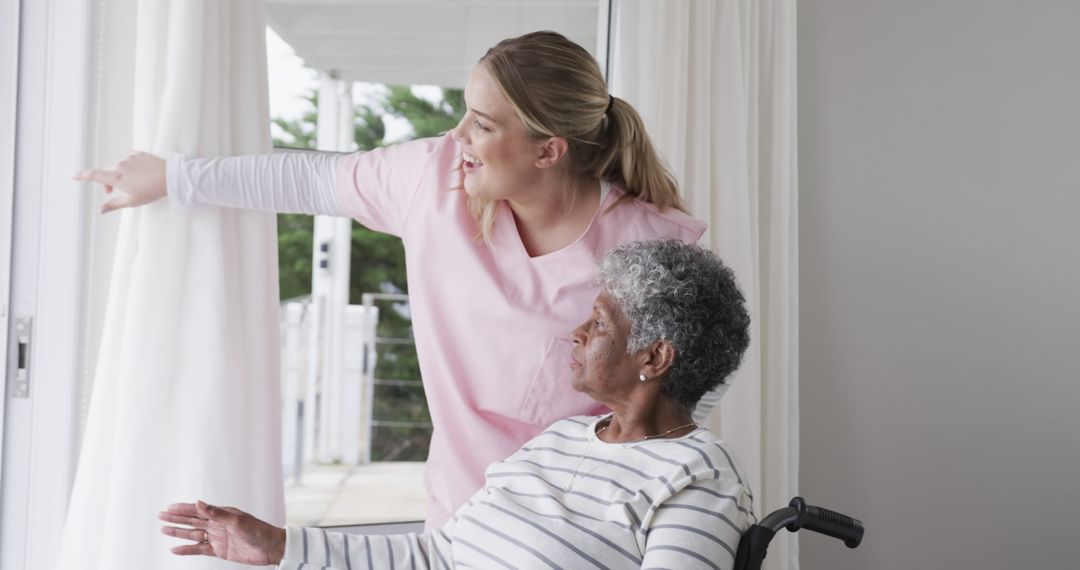
[[[605,293],[596,296],[593,312],[570,334],[576,344],[570,361],[573,389],[604,403],[633,389],[637,365],[626,354],[630,322]]]

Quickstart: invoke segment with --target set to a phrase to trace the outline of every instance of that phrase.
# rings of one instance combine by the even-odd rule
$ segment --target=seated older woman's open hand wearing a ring
[[[275,565],[285,556],[285,529],[259,520],[239,508],[202,501],[168,505],[158,518],[189,528],[162,526],[170,537],[193,541],[172,548],[180,556],[215,556],[247,565]]]

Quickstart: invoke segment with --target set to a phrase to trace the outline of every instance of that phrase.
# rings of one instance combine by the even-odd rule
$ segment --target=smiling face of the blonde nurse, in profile
[[[469,74],[464,99],[468,110],[450,136],[461,144],[465,192],[512,199],[536,179],[538,147],[484,64]]]

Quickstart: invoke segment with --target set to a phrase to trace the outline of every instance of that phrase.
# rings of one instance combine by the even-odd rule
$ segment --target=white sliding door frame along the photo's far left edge
[[[0,18],[9,28],[0,63],[11,69],[11,58],[17,62],[14,89],[0,99],[4,120],[9,113],[15,120],[2,145],[14,144],[0,147],[0,167],[13,173],[0,171],[0,184],[11,189],[11,207],[0,211],[11,225],[9,342],[15,317],[32,318],[28,397],[5,390],[3,401],[3,568],[55,566],[75,475],[82,290],[72,284],[82,280],[86,200],[70,177],[86,150],[91,8],[79,0],[15,1],[2,9],[15,17]],[[14,362],[4,352],[10,379]]]

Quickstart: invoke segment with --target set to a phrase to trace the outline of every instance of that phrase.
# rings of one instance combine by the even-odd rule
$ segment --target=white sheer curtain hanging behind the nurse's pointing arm
[[[140,0],[136,148],[270,150],[261,0]],[[274,217],[123,211],[60,569],[222,569],[180,558],[168,503],[282,524]]]

